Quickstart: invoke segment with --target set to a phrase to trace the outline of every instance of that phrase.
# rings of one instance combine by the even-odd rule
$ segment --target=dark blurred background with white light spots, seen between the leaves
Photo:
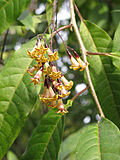
[[[90,20],[91,22],[100,26],[111,37],[113,37],[120,19],[119,0],[76,0],[75,2],[84,19]],[[44,30],[48,26],[46,20],[46,5],[47,1],[32,0],[31,4],[24,12],[24,14],[29,13],[30,16],[32,16],[33,24],[31,25],[31,21],[27,21],[29,22],[28,24],[21,21],[21,23],[18,22],[9,28],[4,50],[5,52],[3,55],[4,63],[7,62],[9,57],[14,54],[15,50],[18,50],[23,43],[26,43],[37,34],[41,34],[44,32]],[[69,1],[58,0],[57,6],[56,27],[58,28],[70,23]],[[19,17],[18,20],[21,20],[21,17]],[[76,20],[78,25],[80,25],[80,20],[77,15]],[[71,32],[69,29],[67,29],[59,33],[65,43],[67,43],[68,46],[74,48],[77,53],[81,55],[74,32]],[[0,36],[0,49],[2,49],[5,34],[6,32]],[[85,88],[85,73],[79,72],[78,70],[73,71],[69,69],[71,63],[66,54],[65,46],[58,35],[56,35],[54,38],[53,47],[59,52],[60,58],[57,61],[59,70],[65,75],[68,80],[74,81],[71,95],[68,97],[68,99],[70,99],[77,92],[80,92]],[[4,65],[1,64],[0,70],[2,70],[3,67]],[[66,103],[66,99],[64,99],[64,102]],[[15,140],[10,149],[17,155],[18,158],[24,152],[27,141],[31,136],[33,129],[37,126],[39,120],[47,111],[48,108],[45,105],[41,104],[38,100],[36,104],[36,110],[31,113],[29,118],[26,120],[26,123],[20,132],[20,135]],[[69,108],[69,113],[65,116],[65,131],[63,139],[69,134],[80,129],[83,125],[96,122],[97,120],[99,120],[99,118],[100,117],[97,113],[93,98],[90,93],[86,91],[75,100],[73,106]],[[6,159],[6,157],[4,157],[4,159]]]

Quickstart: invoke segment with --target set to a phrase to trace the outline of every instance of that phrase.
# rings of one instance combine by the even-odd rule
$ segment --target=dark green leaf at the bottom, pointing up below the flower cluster
[[[49,111],[34,130],[21,159],[57,160],[63,126],[62,115]]]

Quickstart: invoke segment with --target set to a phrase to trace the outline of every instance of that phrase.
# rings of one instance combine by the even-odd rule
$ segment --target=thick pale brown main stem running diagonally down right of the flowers
[[[80,45],[80,47],[81,47],[83,60],[84,60],[84,62],[87,64],[87,56],[86,56],[87,50],[86,50],[85,47],[84,47],[82,38],[81,38],[81,36],[80,36],[79,30],[78,30],[78,27],[77,27],[77,24],[76,24],[73,0],[69,0],[69,2],[70,2],[71,21],[72,21],[72,24],[73,24],[73,28],[74,28],[75,34],[76,34],[76,36],[77,36],[78,43],[79,43],[79,45]],[[100,112],[101,117],[105,117],[105,116],[104,116],[104,113],[103,113],[103,111],[102,111],[102,108],[101,108],[101,106],[100,106],[99,100],[98,100],[98,98],[97,98],[97,95],[96,95],[96,93],[95,93],[95,89],[94,89],[94,86],[93,86],[92,81],[91,81],[91,77],[90,77],[90,72],[89,72],[88,66],[86,66],[86,69],[85,69],[85,70],[86,70],[86,76],[87,76],[88,84],[89,84],[89,86],[90,86],[90,89],[91,89],[93,98],[94,98],[94,100],[95,100],[95,102],[96,102],[97,108],[98,108],[98,110],[99,110],[99,112]]]

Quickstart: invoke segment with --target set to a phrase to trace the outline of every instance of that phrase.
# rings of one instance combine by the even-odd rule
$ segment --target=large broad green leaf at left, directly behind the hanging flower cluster
[[[32,59],[27,55],[36,39],[24,44],[6,63],[0,74],[0,159],[18,136],[33,108],[39,90],[30,83],[26,70]]]

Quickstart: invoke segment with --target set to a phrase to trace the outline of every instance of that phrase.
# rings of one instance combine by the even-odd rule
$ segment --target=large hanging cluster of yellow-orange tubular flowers
[[[54,53],[50,48],[43,46],[38,38],[33,50],[27,51],[28,55],[37,62],[34,67],[28,69],[28,73],[32,76],[31,81],[36,85],[40,83],[41,76],[44,80],[43,94],[40,100],[48,107],[58,108],[57,113],[67,113],[67,107],[63,104],[62,98],[70,94],[73,86],[72,81],[68,81],[60,71],[58,71],[55,62],[58,52]]]

